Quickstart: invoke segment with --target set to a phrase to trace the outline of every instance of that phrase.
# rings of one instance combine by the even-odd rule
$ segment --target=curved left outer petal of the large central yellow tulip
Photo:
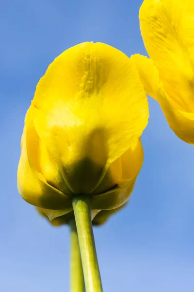
[[[28,140],[27,139],[28,136]],[[27,140],[28,151],[27,151]],[[31,111],[26,116],[26,122],[22,137],[21,156],[17,171],[17,187],[22,198],[28,203],[47,209],[72,210],[69,197],[60,190],[49,185],[45,177],[39,172],[39,165],[36,161],[38,151],[38,136],[32,127]],[[32,151],[33,150],[33,151]],[[37,168],[36,168],[37,167]]]

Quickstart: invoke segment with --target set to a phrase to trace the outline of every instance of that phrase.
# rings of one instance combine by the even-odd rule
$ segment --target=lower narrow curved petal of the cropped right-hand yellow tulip
[[[170,128],[183,141],[194,144],[194,113],[178,108],[163,88],[159,72],[151,59],[142,55],[131,56],[148,95],[158,100]]]

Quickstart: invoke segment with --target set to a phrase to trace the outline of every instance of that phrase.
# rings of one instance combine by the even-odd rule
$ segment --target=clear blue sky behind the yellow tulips
[[[100,41],[146,55],[141,0],[17,0],[0,9],[0,291],[66,292],[69,230],[52,228],[16,189],[24,116],[36,83],[65,49]],[[130,204],[96,228],[105,292],[193,292],[194,147],[149,98],[144,165]]]

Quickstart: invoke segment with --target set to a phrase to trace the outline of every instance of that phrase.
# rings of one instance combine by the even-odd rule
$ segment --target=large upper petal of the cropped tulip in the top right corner
[[[182,111],[194,112],[194,2],[144,0],[139,18],[165,91]]]

